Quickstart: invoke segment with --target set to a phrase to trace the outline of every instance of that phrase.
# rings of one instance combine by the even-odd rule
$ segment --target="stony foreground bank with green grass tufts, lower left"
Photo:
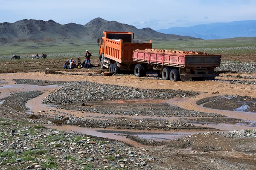
[[[0,119],[0,170],[154,169],[148,150],[111,139]]]

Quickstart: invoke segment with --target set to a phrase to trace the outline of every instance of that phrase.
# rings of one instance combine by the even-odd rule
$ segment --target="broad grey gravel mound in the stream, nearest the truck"
[[[194,91],[175,91],[171,89],[129,88],[118,85],[99,84],[96,82],[67,82],[58,91],[47,96],[46,104],[71,104],[96,100],[128,100],[128,99],[170,99],[173,97],[189,97],[197,95]]]

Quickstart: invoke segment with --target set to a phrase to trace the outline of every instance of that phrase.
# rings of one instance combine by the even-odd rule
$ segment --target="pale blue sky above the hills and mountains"
[[[96,17],[154,30],[256,20],[256,0],[0,0],[0,23],[35,19],[85,25]]]

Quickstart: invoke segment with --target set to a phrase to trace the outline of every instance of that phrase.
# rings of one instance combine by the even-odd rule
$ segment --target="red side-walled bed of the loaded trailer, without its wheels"
[[[133,51],[133,60],[148,64],[190,67],[217,67],[221,63],[220,54],[207,54],[197,51],[177,51],[145,49]]]

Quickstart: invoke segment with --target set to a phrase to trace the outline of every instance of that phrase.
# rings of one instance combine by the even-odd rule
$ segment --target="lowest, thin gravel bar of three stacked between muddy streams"
[[[57,124],[76,125],[79,127],[100,127],[114,129],[136,129],[136,130],[180,130],[180,129],[208,129],[209,127],[196,127],[181,121],[169,122],[164,119],[129,119],[129,118],[108,118],[108,119],[84,119],[73,116],[57,115],[54,117]]]

